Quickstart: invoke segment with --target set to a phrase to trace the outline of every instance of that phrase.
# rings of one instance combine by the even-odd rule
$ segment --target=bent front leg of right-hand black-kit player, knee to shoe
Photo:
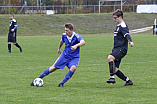
[[[109,55],[109,56],[108,56],[108,64],[109,64],[109,71],[110,71],[110,79],[106,81],[107,83],[113,83],[113,84],[114,84],[114,83],[116,82],[116,81],[115,81],[115,76],[114,76],[114,74],[115,74],[115,69],[116,69],[114,60],[115,60],[115,57],[114,57],[113,55]]]

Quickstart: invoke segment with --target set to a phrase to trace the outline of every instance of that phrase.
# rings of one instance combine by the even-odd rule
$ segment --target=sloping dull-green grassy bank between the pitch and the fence
[[[124,20],[130,30],[152,26],[157,14],[125,13]],[[55,14],[15,15],[18,36],[54,36],[64,32],[65,23],[73,23],[80,34],[101,34],[114,31],[116,23],[112,13],[103,14]],[[9,29],[9,15],[0,15],[0,36],[6,36]]]

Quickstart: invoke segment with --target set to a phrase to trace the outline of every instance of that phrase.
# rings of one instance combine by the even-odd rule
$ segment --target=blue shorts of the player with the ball
[[[70,69],[71,66],[73,65],[78,67],[78,64],[79,64],[78,57],[66,58],[64,54],[61,54],[60,57],[54,63],[54,66],[59,69],[64,69],[64,67],[67,66]]]

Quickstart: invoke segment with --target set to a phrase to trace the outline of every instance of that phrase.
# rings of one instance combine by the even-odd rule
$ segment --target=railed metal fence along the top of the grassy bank
[[[136,12],[137,5],[123,5],[124,12]],[[110,13],[121,5],[101,5],[100,13]],[[56,14],[99,13],[99,5],[52,5],[52,6],[0,6],[0,14],[46,14],[52,10]]]

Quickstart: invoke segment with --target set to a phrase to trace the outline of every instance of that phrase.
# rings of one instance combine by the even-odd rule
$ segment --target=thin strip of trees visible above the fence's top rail
[[[38,3],[37,3],[38,1]],[[125,4],[157,4],[157,0],[123,0]],[[98,5],[99,0],[0,0],[0,6],[41,6],[50,5]],[[119,4],[117,1],[105,1],[106,5]]]

